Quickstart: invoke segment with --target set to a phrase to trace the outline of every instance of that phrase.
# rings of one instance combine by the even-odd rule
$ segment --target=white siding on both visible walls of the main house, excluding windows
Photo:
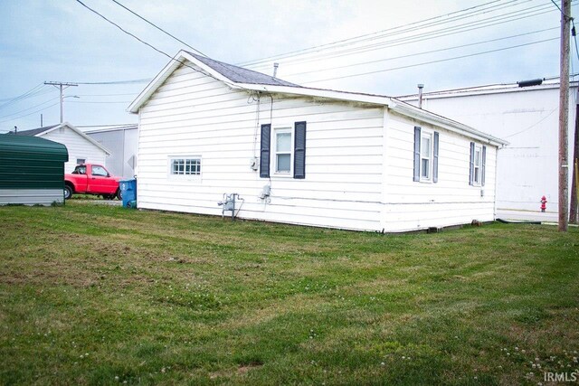
[[[260,155],[261,124],[299,121],[307,122],[306,178],[273,169],[261,178],[250,167]],[[417,124],[367,103],[281,94],[258,103],[255,93],[181,67],[139,109],[138,206],[220,215],[223,193],[239,193],[239,217],[263,221],[415,231],[493,220],[496,147],[488,145],[484,197],[469,186],[470,139],[444,129],[440,183],[414,183]],[[187,155],[202,159],[201,175],[171,175],[171,157]],[[268,199],[260,198],[264,185]]]

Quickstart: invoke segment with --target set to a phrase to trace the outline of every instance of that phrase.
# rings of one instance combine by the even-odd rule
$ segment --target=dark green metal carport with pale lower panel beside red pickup
[[[0,205],[64,202],[66,146],[39,137],[0,134]]]

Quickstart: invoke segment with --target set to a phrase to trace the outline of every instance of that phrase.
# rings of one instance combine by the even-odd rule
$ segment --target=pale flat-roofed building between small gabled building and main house
[[[81,128],[81,127],[80,127]],[[90,127],[84,134],[110,151],[105,166],[111,174],[124,178],[135,175],[138,153],[138,126]]]

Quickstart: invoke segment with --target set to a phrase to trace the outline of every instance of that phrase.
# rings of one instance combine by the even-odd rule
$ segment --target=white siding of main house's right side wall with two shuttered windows
[[[471,138],[440,127],[422,125],[422,133],[438,131],[438,183],[413,183],[413,127],[391,113],[385,138],[386,175],[384,221],[386,231],[413,231],[494,220],[497,147],[487,146],[486,184],[469,185]],[[482,192],[481,192],[482,191]]]

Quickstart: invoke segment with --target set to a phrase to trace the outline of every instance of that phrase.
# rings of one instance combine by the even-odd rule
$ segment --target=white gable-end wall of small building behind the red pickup
[[[77,165],[78,159],[84,159],[88,164],[105,165],[107,152],[92,144],[86,137],[82,137],[70,127],[57,127],[39,137],[66,146],[69,151],[69,162],[64,164],[64,173],[71,173]]]

